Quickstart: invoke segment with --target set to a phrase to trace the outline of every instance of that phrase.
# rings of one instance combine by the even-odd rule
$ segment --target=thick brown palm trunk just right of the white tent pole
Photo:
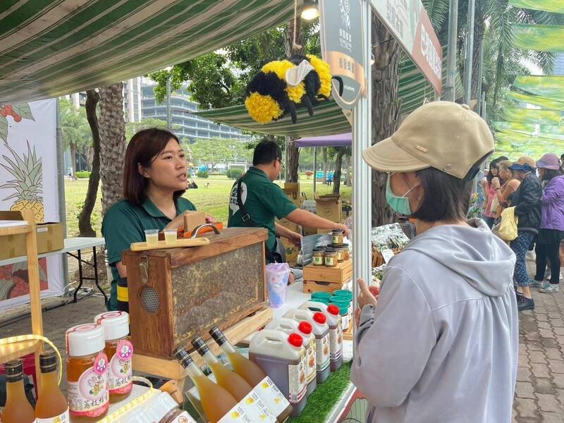
[[[401,47],[383,23],[372,16],[372,145],[392,135],[398,126],[399,63]],[[372,226],[391,223],[394,214],[386,202],[386,173],[372,171]]]

